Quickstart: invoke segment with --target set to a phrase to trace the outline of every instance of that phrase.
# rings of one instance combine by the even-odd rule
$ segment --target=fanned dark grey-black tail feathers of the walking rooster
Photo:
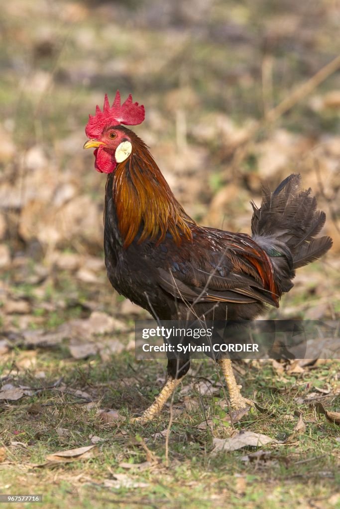
[[[300,183],[300,175],[290,175],[273,193],[264,188],[259,209],[252,203],[253,238],[271,257],[283,292],[292,286],[287,279],[294,277],[294,269],[322,257],[332,246],[330,237],[315,238],[326,214],[317,210],[311,189],[301,190]]]

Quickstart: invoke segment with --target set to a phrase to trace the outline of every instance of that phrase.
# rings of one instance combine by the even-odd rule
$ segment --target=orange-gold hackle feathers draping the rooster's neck
[[[141,225],[139,244],[145,240],[160,244],[167,233],[177,245],[182,240],[192,241],[190,225],[196,224],[195,221],[175,199],[143,141],[129,129],[126,132],[132,141],[132,153],[117,164],[113,180],[113,199],[123,247],[133,242]]]

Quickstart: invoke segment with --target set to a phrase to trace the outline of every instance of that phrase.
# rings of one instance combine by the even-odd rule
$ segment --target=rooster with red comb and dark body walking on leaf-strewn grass
[[[105,96],[85,128],[85,149],[94,148],[95,169],[107,174],[104,251],[111,285],[160,320],[253,320],[266,304],[279,306],[293,287],[295,269],[330,249],[319,237],[326,215],[311,190],[290,175],[274,192],[265,188],[253,206],[252,236],[198,225],[182,208],[148,147],[124,125],[144,120],[144,106],[129,95],[112,106]],[[124,125],[123,125],[124,124]],[[232,409],[243,398],[229,358],[220,358]],[[154,403],[137,420],[158,414],[190,357],[168,358],[168,378]]]

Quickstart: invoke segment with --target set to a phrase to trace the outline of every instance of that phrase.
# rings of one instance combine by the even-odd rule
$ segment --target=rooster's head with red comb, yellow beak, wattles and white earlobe
[[[121,124],[138,125],[144,118],[144,106],[139,106],[138,102],[133,103],[131,94],[120,104],[120,93],[117,90],[112,106],[105,95],[102,111],[97,106],[95,115],[90,115],[85,128],[90,139],[85,143],[84,149],[95,148],[93,154],[97,172],[112,173],[117,163],[129,157],[132,141]]]

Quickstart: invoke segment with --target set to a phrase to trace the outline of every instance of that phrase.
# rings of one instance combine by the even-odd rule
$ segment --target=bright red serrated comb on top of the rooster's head
[[[132,102],[132,95],[129,94],[123,104],[120,104],[119,90],[116,92],[115,100],[110,106],[108,95],[105,94],[103,110],[96,106],[96,114],[89,115],[89,121],[85,127],[88,138],[100,136],[104,127],[108,124],[127,126],[136,126],[141,124],[145,118],[144,106],[139,106],[138,102]]]

